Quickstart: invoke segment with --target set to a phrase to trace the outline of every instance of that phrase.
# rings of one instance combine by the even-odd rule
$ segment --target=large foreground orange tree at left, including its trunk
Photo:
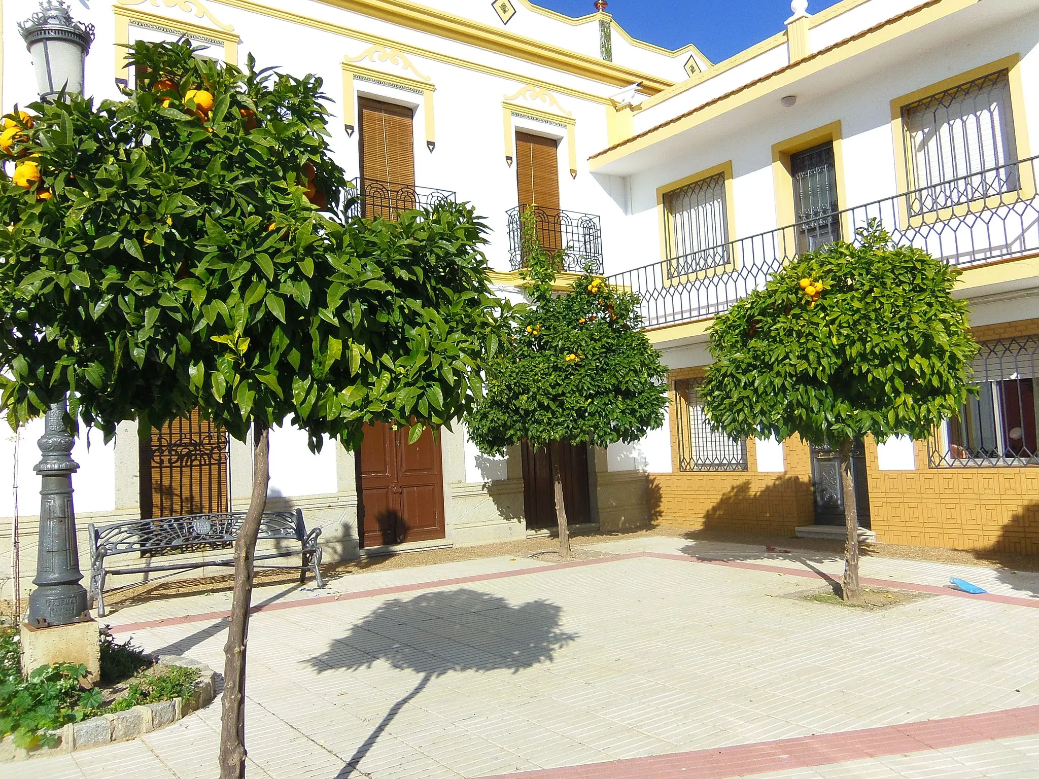
[[[137,89],[10,114],[0,180],[0,370],[12,424],[70,396],[111,436],[197,408],[251,432],[235,546],[221,777],[244,772],[252,558],[268,431],[355,449],[371,421],[439,426],[469,410],[496,299],[465,206],[398,222],[337,216],[321,81],[244,72],[183,43],[138,45]],[[325,213],[319,210],[327,209]]]

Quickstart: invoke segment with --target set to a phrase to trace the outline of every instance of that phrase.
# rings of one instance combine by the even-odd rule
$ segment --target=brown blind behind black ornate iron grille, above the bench
[[[140,516],[230,511],[229,442],[198,411],[140,440]]]

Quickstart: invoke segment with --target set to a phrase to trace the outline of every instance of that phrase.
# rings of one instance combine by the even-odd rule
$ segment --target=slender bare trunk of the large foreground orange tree
[[[267,507],[270,479],[268,429],[252,426],[252,495],[235,541],[235,590],[231,599],[228,643],[223,647],[223,701],[220,729],[220,779],[245,779],[245,647],[252,599],[252,559]]]

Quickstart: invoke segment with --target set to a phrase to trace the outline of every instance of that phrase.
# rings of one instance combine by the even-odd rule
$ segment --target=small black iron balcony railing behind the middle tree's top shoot
[[[603,225],[598,216],[540,206],[517,206],[508,212],[512,270],[527,265],[531,240],[524,235],[523,217],[531,212],[538,242],[550,251],[563,252],[563,270],[603,272]]]

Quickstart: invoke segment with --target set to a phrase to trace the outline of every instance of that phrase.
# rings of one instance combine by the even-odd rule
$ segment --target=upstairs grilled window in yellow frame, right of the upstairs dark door
[[[1019,187],[1007,71],[902,108],[913,213]]]

